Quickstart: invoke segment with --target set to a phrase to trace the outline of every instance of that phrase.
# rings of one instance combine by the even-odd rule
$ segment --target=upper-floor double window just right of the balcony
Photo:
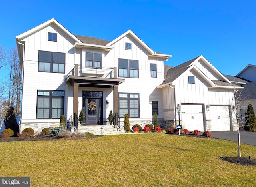
[[[139,61],[118,59],[118,76],[139,78]]]

